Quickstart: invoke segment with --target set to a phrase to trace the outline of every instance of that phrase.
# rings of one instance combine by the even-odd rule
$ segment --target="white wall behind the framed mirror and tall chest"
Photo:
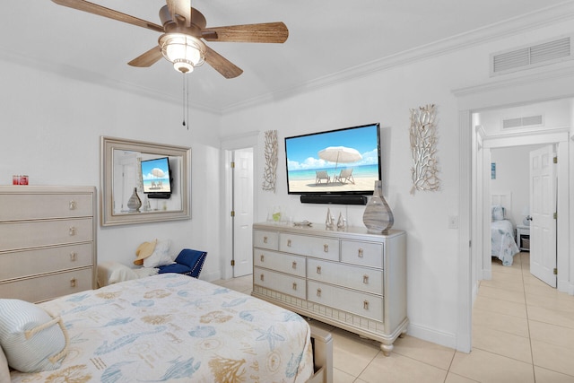
[[[143,241],[171,239],[172,252],[181,248],[207,251],[202,278],[220,277],[217,117],[191,111],[187,130],[181,126],[180,104],[9,61],[0,61],[0,83],[4,90],[0,95],[2,184],[11,184],[13,174],[27,174],[30,185],[100,190],[100,135],[191,147],[191,221],[107,228],[98,222],[98,257],[100,262],[131,265]]]

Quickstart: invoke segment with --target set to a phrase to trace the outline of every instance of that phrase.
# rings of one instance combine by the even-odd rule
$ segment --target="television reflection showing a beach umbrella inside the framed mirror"
[[[142,161],[143,193],[148,198],[170,198],[170,158],[161,157]]]

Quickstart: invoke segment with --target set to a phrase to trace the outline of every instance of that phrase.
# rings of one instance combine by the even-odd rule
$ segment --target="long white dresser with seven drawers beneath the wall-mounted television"
[[[253,296],[380,342],[406,333],[406,235],[253,225]]]

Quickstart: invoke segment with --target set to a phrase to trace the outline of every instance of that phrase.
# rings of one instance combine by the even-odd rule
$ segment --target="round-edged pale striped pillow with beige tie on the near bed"
[[[65,357],[67,336],[62,320],[39,306],[24,300],[0,300],[0,345],[14,370],[56,370]]]

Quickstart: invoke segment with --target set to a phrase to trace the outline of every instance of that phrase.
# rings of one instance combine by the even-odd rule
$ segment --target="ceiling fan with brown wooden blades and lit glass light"
[[[84,0],[52,0],[83,12],[98,14],[119,22],[127,22],[148,30],[161,32],[158,45],[128,65],[146,67],[165,57],[181,73],[193,71],[204,62],[222,74],[225,78],[234,78],[243,73],[237,65],[205,45],[206,41],[226,42],[265,42],[283,43],[289,36],[289,30],[283,22],[265,22],[259,24],[231,25],[225,27],[207,27],[202,13],[191,7],[191,0],[166,0],[160,9],[161,25],[147,22],[126,13],[114,11],[104,6]]]

